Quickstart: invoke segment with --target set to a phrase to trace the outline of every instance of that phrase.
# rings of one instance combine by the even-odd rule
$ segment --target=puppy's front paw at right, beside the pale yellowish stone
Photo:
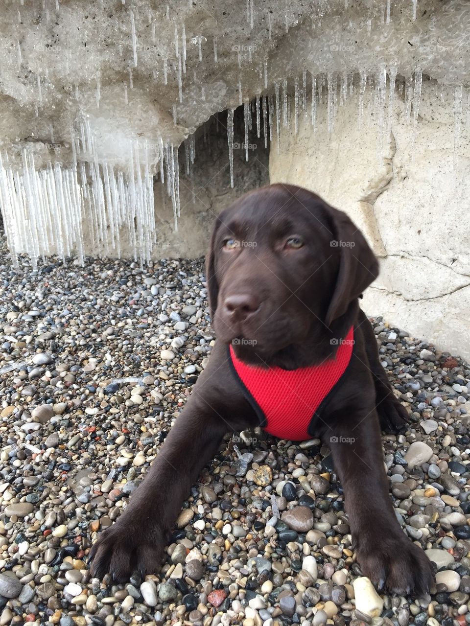
[[[361,541],[357,550],[362,573],[387,593],[421,597],[434,585],[431,561],[406,536]]]

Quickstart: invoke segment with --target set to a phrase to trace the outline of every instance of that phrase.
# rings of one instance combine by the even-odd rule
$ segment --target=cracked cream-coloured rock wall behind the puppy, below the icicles
[[[332,133],[320,105],[316,131],[305,120],[297,135],[282,131],[270,180],[319,193],[364,231],[381,259],[364,295],[369,314],[470,357],[470,134],[452,102],[451,91],[426,80],[417,123],[398,94],[389,132],[373,101],[360,126],[351,98]]]

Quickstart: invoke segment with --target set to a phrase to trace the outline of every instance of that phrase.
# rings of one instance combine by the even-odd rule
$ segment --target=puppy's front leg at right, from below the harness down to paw
[[[434,580],[431,562],[402,531],[389,495],[375,411],[349,414],[325,437],[345,494],[362,572],[388,592],[422,595]]]

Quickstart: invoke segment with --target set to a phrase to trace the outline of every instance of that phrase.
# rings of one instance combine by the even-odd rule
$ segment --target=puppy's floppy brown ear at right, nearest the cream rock
[[[344,315],[350,302],[358,298],[379,275],[379,263],[359,228],[346,213],[332,207],[329,207],[329,212],[335,237],[330,245],[338,248],[340,265],[327,310],[327,326]]]

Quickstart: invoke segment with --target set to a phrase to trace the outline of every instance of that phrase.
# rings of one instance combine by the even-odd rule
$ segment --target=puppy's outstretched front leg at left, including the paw
[[[210,407],[188,403],[125,512],[93,546],[93,576],[109,572],[116,582],[125,582],[135,570],[144,575],[160,567],[181,503],[228,430],[227,422]]]

